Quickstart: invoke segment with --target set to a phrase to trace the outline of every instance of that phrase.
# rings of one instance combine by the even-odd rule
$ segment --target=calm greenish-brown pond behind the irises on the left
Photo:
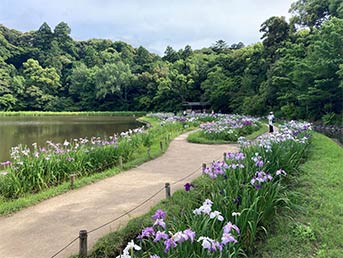
[[[0,117],[0,162],[10,159],[11,147],[44,146],[92,136],[106,137],[142,126],[133,116],[4,116]]]

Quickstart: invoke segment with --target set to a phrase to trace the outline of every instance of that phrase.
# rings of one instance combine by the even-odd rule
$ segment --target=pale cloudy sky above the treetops
[[[53,29],[66,22],[75,40],[124,41],[163,55],[210,47],[217,40],[229,45],[260,41],[260,25],[272,16],[290,17],[295,0],[0,0],[0,24],[22,32]]]

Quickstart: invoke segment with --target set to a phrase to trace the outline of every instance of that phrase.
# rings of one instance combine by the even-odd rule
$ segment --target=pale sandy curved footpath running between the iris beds
[[[111,221],[142,203],[166,182],[175,182],[197,171],[190,178],[172,185],[172,191],[182,188],[201,174],[202,163],[222,160],[224,152],[239,149],[235,144],[188,143],[188,134],[175,138],[161,157],[137,168],[43,201],[12,216],[0,217],[0,257],[51,257],[77,237],[81,229],[90,231]],[[164,191],[129,216],[147,212],[163,198]],[[98,238],[125,225],[129,219],[125,216],[89,234],[88,249]],[[56,257],[77,253],[78,245],[75,241]]]

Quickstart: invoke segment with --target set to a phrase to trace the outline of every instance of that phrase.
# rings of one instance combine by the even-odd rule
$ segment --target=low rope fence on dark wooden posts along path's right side
[[[224,153],[224,159],[225,159],[225,156],[226,156],[226,153]],[[218,159],[216,160],[220,160],[223,156],[220,156]],[[210,161],[211,162],[211,161]],[[159,193],[161,193],[163,190],[166,191],[166,198],[170,198],[171,197],[171,194],[170,194],[170,186],[171,185],[176,185],[184,180],[186,180],[187,178],[193,176],[195,173],[197,173],[199,170],[201,172],[203,172],[203,169],[204,169],[204,165],[206,166],[207,163],[210,163],[210,162],[206,162],[206,163],[203,163],[200,167],[197,167],[196,169],[192,170],[189,174],[187,174],[186,176],[172,182],[172,183],[166,183],[164,187],[161,187],[157,192],[155,192],[154,194],[150,195],[147,199],[145,199],[144,201],[142,201],[141,203],[139,203],[137,206],[135,206],[134,208],[124,212],[123,214],[121,214],[120,216],[94,228],[94,229],[91,229],[89,231],[87,230],[80,230],[79,232],[79,236],[74,238],[72,241],[70,241],[67,245],[65,245],[63,248],[61,248],[58,252],[56,252],[54,255],[51,256],[51,258],[54,258],[56,257],[57,255],[59,255],[61,252],[63,252],[64,250],[66,250],[69,246],[71,246],[74,242],[76,242],[78,239],[80,239],[80,248],[79,248],[79,257],[86,257],[87,256],[87,237],[88,237],[88,234],[91,234],[127,215],[129,215],[131,212],[137,210],[138,208],[142,207],[144,204],[146,204],[147,202],[151,201],[155,196],[157,196]]]

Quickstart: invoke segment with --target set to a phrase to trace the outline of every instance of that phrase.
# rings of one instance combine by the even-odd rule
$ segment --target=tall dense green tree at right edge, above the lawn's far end
[[[309,46],[307,71],[310,114],[314,118],[328,112],[342,112],[340,65],[343,64],[343,19],[331,18],[315,31]]]

